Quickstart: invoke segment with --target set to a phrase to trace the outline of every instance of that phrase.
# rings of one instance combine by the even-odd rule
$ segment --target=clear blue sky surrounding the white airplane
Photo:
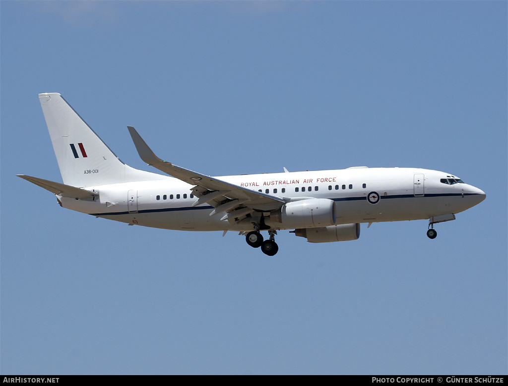
[[[3,374],[507,370],[506,2],[0,2]],[[424,167],[487,199],[267,257],[58,206],[38,93],[131,166]],[[152,170],[150,170],[152,171]]]

